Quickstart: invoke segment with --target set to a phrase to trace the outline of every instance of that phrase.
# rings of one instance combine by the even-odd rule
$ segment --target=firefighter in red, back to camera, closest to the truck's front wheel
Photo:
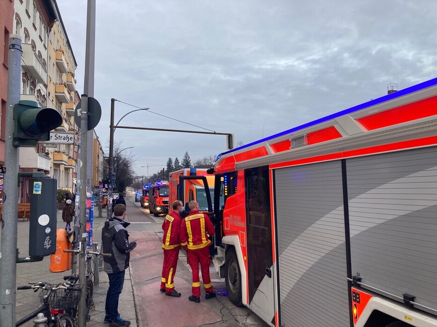
[[[199,264],[202,272],[203,287],[206,291],[205,299],[216,297],[210,277],[210,236],[214,235],[214,225],[206,214],[199,212],[199,204],[196,201],[188,203],[190,212],[182,219],[180,228],[180,241],[182,248],[187,250],[187,260],[193,274],[193,282],[188,299],[200,302],[200,279]]]

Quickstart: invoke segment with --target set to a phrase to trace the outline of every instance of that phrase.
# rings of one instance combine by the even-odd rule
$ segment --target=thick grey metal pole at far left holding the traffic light
[[[5,40],[6,42],[6,40]],[[0,322],[1,326],[15,326],[18,199],[18,149],[12,145],[14,122],[13,106],[20,101],[21,37],[10,35],[7,77],[6,140],[4,146],[3,221],[0,253]]]

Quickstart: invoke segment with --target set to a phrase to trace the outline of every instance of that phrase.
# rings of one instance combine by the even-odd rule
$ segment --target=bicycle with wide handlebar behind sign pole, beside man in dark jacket
[[[71,252],[71,253],[79,253],[79,250],[64,250],[64,252]],[[110,253],[103,253],[103,252],[95,252],[95,251],[85,251],[85,282],[86,282],[86,293],[85,293],[85,306],[86,306],[86,313],[85,313],[85,320],[89,322],[90,315],[89,315],[89,309],[94,306],[94,300],[93,300],[93,292],[94,292],[94,282],[95,282],[95,273],[98,270],[98,267],[94,264],[92,260],[92,256],[105,256],[105,257],[111,257],[112,254]],[[98,271],[97,271],[98,273]],[[64,280],[69,280],[72,285],[75,285],[77,283],[77,280],[79,279],[77,274],[67,275],[64,276]]]

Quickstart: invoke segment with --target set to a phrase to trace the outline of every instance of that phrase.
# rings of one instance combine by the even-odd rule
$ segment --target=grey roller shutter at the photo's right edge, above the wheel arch
[[[347,176],[352,272],[437,309],[437,148],[347,160]]]

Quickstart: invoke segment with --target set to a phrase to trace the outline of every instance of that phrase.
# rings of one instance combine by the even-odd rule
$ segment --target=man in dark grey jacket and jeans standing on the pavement
[[[126,227],[126,206],[118,204],[114,208],[114,217],[105,221],[102,228],[102,251],[111,257],[103,257],[103,270],[109,277],[109,288],[106,293],[105,324],[110,327],[129,326],[131,322],[120,317],[118,300],[123,289],[125,271],[129,267],[130,252],[137,246],[135,241],[129,242]]]

